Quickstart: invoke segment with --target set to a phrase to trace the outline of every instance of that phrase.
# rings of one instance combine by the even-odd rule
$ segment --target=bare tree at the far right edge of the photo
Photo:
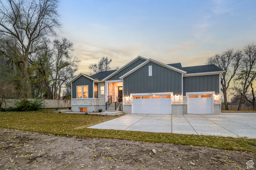
[[[241,95],[238,111],[241,109],[242,101],[248,88],[250,88],[256,77],[256,45],[252,43],[245,46],[243,53],[242,65],[234,82],[234,89]]]

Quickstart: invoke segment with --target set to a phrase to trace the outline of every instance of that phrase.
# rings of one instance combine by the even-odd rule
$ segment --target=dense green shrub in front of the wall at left
[[[41,109],[43,101],[38,99],[21,99],[16,103],[17,111],[35,111]]]

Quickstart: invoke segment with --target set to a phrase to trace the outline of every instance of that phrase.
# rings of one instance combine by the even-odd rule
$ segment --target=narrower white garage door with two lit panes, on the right
[[[212,94],[190,94],[188,99],[188,114],[212,114]]]

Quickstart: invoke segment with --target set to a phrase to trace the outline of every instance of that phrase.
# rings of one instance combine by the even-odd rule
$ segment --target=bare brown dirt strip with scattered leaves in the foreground
[[[246,169],[256,162],[249,152],[11,129],[0,129],[0,141],[0,169]]]

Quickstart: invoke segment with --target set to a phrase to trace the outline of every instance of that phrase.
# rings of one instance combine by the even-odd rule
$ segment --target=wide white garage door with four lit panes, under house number
[[[170,114],[170,95],[133,95],[132,110],[137,114]]]

